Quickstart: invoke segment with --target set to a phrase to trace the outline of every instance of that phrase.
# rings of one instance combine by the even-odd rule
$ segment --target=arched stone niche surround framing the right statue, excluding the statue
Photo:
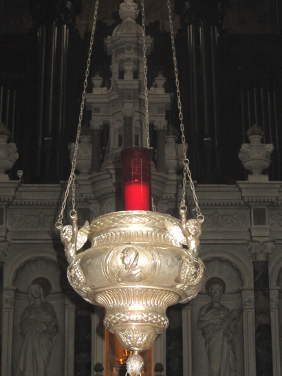
[[[233,251],[234,251],[233,247]],[[202,261],[206,265],[206,282],[210,278],[221,278],[226,284],[226,290],[221,299],[221,304],[227,309],[241,309],[241,316],[237,324],[237,334],[234,338],[234,347],[237,357],[237,374],[252,376],[255,375],[255,358],[252,344],[254,343],[254,299],[252,287],[252,263],[250,256],[246,253],[246,258],[235,252],[226,252],[222,245],[217,249],[207,247],[204,253],[200,254]],[[250,265],[248,265],[248,263]],[[211,280],[211,279],[210,279]],[[250,300],[251,305],[246,305],[245,300]],[[199,311],[210,303],[210,296],[206,291],[206,283],[202,287],[195,299],[184,308],[182,316],[184,330],[186,328],[186,342],[192,343],[187,348],[188,360],[184,362],[184,368],[191,364],[191,374],[193,369],[201,375],[208,375],[208,356],[205,350],[205,341],[202,331],[197,329]],[[185,331],[184,331],[185,333]],[[189,350],[191,347],[191,350]],[[199,353],[201,355],[199,355]],[[244,362],[244,360],[249,360]],[[246,369],[245,364],[250,364]]]

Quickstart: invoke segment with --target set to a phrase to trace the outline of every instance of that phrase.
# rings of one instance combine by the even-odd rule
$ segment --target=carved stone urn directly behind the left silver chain
[[[70,160],[74,157],[75,144],[69,144]],[[81,177],[88,177],[91,172],[92,163],[92,137],[90,130],[81,130],[80,143],[78,144],[78,153],[76,157],[76,170]]]

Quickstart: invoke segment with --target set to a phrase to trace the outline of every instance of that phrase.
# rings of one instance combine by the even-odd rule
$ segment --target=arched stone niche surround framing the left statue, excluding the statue
[[[46,245],[21,247],[21,252],[14,253],[7,264],[4,278],[3,325],[6,327],[4,344],[3,375],[18,374],[17,362],[23,344],[20,332],[21,316],[30,305],[28,286],[38,283],[43,294],[54,308],[58,322],[58,333],[54,338],[52,355],[48,364],[50,375],[74,375],[72,360],[74,359],[74,317],[75,307],[65,295],[65,281],[62,285],[62,274],[57,256],[52,247]],[[65,278],[66,279],[66,278]],[[46,287],[46,289],[45,289]],[[68,328],[65,331],[65,328]],[[67,362],[64,361],[64,357]]]

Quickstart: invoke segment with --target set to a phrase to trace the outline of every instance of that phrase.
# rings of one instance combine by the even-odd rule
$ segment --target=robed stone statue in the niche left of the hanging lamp
[[[28,287],[30,305],[21,316],[23,344],[17,366],[23,376],[46,376],[58,322],[54,307],[45,301],[41,285]]]

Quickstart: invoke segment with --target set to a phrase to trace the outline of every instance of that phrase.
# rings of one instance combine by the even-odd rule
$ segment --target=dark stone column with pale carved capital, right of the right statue
[[[248,245],[254,267],[254,322],[256,338],[257,376],[272,376],[272,333],[270,318],[270,286],[268,259],[274,245],[271,242],[250,242]]]

